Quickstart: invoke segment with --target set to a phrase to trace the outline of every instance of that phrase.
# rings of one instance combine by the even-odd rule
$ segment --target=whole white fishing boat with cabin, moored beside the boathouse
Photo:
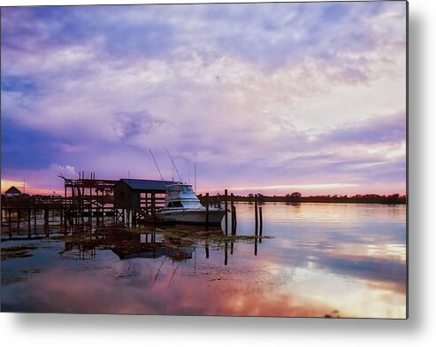
[[[209,224],[221,225],[226,211],[220,204],[210,204]],[[166,186],[164,207],[156,213],[158,220],[181,224],[206,224],[206,207],[195,196],[190,184]]]

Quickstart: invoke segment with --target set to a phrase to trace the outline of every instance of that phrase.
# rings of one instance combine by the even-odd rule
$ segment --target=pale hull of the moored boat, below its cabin
[[[209,212],[209,225],[219,226],[223,220],[224,211],[210,211]],[[157,220],[173,222],[179,224],[193,224],[193,225],[206,225],[206,212],[205,211],[168,211],[157,212]]]

